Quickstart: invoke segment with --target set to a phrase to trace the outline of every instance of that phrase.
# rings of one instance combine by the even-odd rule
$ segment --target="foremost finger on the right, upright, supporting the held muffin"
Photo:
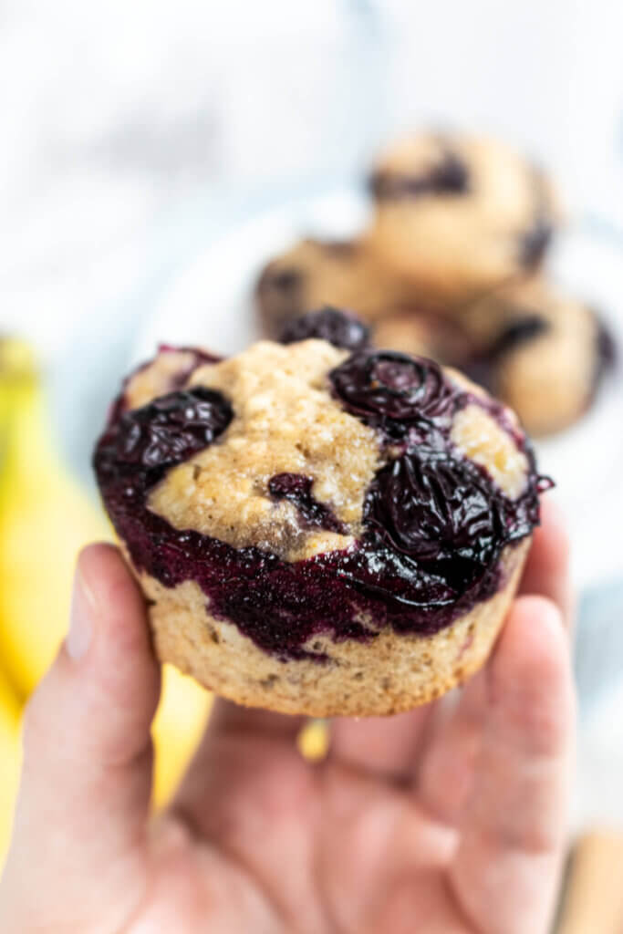
[[[573,680],[558,609],[520,598],[488,669],[488,717],[450,881],[476,929],[545,931],[564,840]]]

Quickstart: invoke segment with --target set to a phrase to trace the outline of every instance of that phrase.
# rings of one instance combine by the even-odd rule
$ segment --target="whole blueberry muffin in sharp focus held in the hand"
[[[94,469],[163,661],[239,703],[392,714],[487,658],[546,483],[508,409],[335,346],[332,320],[227,360],[165,349]]]

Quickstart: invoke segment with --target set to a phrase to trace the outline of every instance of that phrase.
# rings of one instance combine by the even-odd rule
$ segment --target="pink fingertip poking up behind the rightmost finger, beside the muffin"
[[[569,550],[564,515],[556,500],[544,497],[541,525],[534,530],[519,592],[537,594],[556,603],[567,627],[571,627],[573,617]]]

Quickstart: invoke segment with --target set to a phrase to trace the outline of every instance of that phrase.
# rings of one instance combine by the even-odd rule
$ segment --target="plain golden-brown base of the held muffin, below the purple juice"
[[[149,574],[136,576],[150,601],[158,658],[220,696],[282,714],[390,715],[433,701],[482,666],[516,593],[530,542],[504,549],[502,587],[445,629],[432,636],[388,629],[369,642],[334,642],[319,634],[308,647],[325,653],[326,662],[268,655],[233,623],[211,616],[205,594],[191,581],[168,588]]]

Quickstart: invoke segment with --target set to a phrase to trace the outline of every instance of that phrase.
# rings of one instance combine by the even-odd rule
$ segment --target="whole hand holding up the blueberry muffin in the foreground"
[[[301,720],[219,701],[149,819],[159,669],[119,553],[83,552],[70,635],[26,715],[4,934],[545,934],[559,882],[573,685],[567,558],[544,504],[521,595],[450,709]]]

